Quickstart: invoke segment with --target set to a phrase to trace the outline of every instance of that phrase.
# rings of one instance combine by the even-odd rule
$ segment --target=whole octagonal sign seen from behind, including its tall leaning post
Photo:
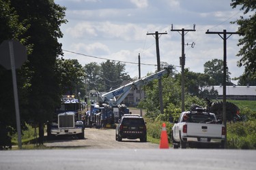
[[[12,69],[12,84],[14,88],[14,103],[16,112],[16,126],[18,133],[18,148],[22,149],[21,144],[21,129],[20,129],[20,111],[18,107],[18,90],[16,82],[16,68],[20,68],[21,65],[27,60],[27,51],[25,46],[20,44],[16,40],[5,40],[0,46],[1,60],[0,64],[5,69]]]

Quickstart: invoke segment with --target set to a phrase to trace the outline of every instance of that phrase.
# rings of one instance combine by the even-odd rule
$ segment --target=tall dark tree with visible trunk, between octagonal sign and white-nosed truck
[[[51,119],[56,105],[59,104],[59,78],[55,73],[57,56],[62,54],[61,44],[57,41],[63,34],[59,27],[64,20],[65,7],[53,0],[13,0],[12,6],[19,20],[27,20],[29,29],[24,37],[33,46],[28,55],[27,67],[31,86],[28,88],[29,113],[31,120],[38,123],[40,143],[44,136],[44,122]]]

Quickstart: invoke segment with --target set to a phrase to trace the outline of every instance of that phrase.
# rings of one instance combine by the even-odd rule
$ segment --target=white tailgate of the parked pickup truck
[[[221,137],[220,124],[187,123],[187,136]]]

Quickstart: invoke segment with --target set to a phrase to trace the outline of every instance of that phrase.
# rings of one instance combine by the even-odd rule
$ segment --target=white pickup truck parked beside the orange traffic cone
[[[182,112],[171,131],[173,148],[224,148],[226,129],[215,114],[196,111]]]

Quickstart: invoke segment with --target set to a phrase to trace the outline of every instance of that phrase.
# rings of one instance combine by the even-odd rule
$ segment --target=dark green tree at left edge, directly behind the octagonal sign
[[[27,46],[27,52],[31,51],[31,46],[25,44],[27,37],[23,37],[29,24],[26,20],[20,20],[15,8],[12,7],[11,1],[0,0],[0,44],[5,39],[17,39],[23,45]],[[26,71],[16,69],[16,79],[18,86],[18,97],[20,104],[20,121],[22,128],[25,128],[25,118],[27,115],[27,80]],[[12,73],[0,65],[0,150],[5,148],[4,145],[11,145],[8,133],[16,131],[16,116],[14,109],[14,95],[12,88]],[[9,128],[12,127],[12,128]],[[13,131],[12,131],[13,130]]]

